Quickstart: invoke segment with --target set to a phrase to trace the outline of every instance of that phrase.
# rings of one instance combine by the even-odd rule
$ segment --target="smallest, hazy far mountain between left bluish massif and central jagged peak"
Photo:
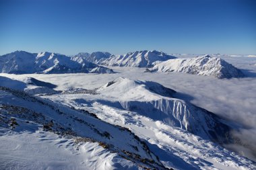
[[[94,64],[100,64],[103,60],[109,58],[110,56],[113,55],[109,52],[92,52],[92,54],[87,52],[80,52],[79,54],[73,56],[73,60],[79,60],[80,62],[88,60]]]

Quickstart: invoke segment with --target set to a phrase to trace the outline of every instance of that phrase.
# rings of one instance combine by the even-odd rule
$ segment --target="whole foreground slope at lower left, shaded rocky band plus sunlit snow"
[[[0,169],[165,169],[126,128],[21,91],[0,87],[0,122]]]

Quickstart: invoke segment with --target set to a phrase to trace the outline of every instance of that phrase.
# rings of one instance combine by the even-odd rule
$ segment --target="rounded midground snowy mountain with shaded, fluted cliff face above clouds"
[[[191,103],[173,97],[175,91],[151,81],[119,77],[96,90],[121,108],[160,120],[216,142],[230,142],[230,128],[220,118]]]

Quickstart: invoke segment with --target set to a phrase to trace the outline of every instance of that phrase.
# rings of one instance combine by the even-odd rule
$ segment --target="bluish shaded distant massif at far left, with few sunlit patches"
[[[92,62],[73,60],[69,56],[51,52],[15,51],[0,56],[1,73],[113,73],[111,69]]]

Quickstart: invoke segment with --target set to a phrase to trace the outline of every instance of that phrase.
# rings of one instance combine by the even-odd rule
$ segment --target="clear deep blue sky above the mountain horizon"
[[[254,0],[0,0],[0,54],[256,54]]]

